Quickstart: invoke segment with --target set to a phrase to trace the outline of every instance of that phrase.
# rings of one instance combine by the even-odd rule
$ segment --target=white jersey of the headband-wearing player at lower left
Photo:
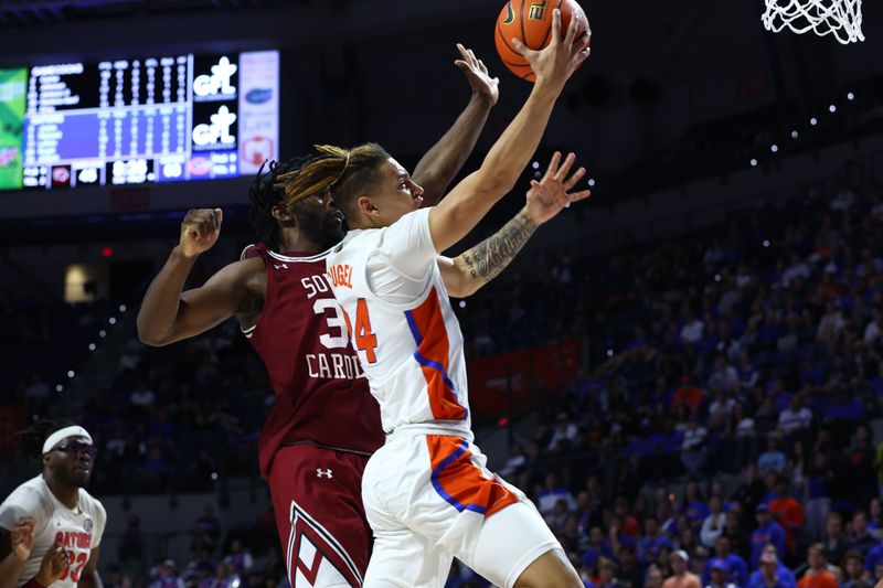
[[[50,586],[75,588],[92,549],[102,542],[107,521],[102,503],[81,488],[77,505],[71,510],[58,502],[41,474],[21,484],[0,504],[1,527],[12,531],[15,523],[25,517],[36,520],[34,546],[17,586],[36,576],[43,556],[52,545],[60,543],[68,553],[68,566],[62,578]]]

